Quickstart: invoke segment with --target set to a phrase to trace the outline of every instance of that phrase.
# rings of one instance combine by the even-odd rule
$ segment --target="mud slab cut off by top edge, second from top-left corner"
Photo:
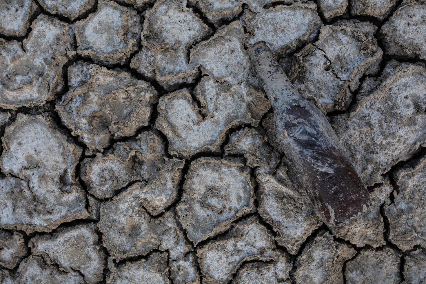
[[[39,0],[38,3],[49,13],[74,21],[87,14],[95,5],[95,0]]]

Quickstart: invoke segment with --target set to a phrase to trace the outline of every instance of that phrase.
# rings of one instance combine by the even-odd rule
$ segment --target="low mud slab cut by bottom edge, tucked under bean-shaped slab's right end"
[[[234,276],[232,284],[290,284],[291,268],[291,260],[285,255],[279,255],[273,262],[243,264]]]

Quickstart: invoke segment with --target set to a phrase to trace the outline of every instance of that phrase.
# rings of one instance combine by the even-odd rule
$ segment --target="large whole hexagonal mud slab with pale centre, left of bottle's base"
[[[237,159],[197,159],[185,178],[176,209],[194,245],[225,232],[233,221],[254,210],[250,169]]]

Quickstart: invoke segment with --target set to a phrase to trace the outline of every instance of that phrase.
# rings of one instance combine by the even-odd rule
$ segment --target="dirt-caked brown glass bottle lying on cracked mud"
[[[370,194],[322,112],[302,98],[264,41],[248,49],[275,113],[277,142],[327,225],[370,204]]]

